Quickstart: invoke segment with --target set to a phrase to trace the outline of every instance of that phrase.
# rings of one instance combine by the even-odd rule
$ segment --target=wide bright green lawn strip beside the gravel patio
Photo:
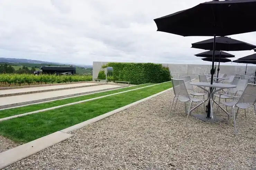
[[[149,97],[169,89],[171,86],[171,82],[167,82],[85,103],[2,121],[0,122],[0,135],[16,142],[29,142]]]

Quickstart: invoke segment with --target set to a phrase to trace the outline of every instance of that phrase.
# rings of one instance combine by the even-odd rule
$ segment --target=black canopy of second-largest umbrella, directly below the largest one
[[[192,48],[212,50],[214,39],[208,39],[192,44]],[[215,50],[222,51],[243,51],[256,48],[253,44],[235,40],[229,37],[216,37]],[[221,52],[222,55],[222,52]]]

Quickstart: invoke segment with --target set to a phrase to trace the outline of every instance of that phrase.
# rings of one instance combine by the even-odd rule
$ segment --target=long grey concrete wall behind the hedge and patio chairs
[[[108,62],[93,61],[92,78],[97,79],[98,74],[103,64]],[[179,76],[190,76],[191,79],[198,79],[199,73],[210,73],[211,65],[203,64],[171,64],[162,63],[163,66],[168,67],[171,71],[173,78],[179,78]],[[245,64],[246,66],[246,64]],[[220,66],[220,73],[226,73],[228,75],[245,74],[245,66]],[[218,67],[218,66],[217,66]],[[247,66],[246,74],[254,74],[256,66]]]

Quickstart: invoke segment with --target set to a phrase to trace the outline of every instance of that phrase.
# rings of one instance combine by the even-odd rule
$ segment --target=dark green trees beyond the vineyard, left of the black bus
[[[8,65],[8,64],[1,64],[0,65],[0,73],[18,73],[18,74],[30,74],[30,73],[34,73],[34,71],[36,71],[36,69],[34,67],[32,67],[31,69],[29,69],[26,66],[22,66],[22,68],[19,68],[18,70],[15,70],[12,66]]]

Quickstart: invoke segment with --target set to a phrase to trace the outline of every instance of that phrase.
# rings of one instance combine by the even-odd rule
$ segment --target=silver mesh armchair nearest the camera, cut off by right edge
[[[242,93],[241,97],[230,96],[230,95],[227,95],[227,94],[221,94],[221,96],[222,95],[233,98],[233,100],[230,101],[230,102],[221,102],[220,101],[221,97],[220,97],[216,112],[219,109],[219,104],[220,103],[224,104],[228,107],[231,107],[231,112],[233,112],[233,114],[234,114],[235,135],[237,135],[236,118],[237,118],[238,110],[239,109],[247,109],[250,106],[253,106],[255,104],[255,102],[256,102],[256,84],[248,83],[244,92]],[[235,113],[235,107],[237,107],[237,112],[236,113]],[[254,105],[254,109],[256,110],[255,105]],[[246,115],[246,110],[245,110],[245,115]],[[213,117],[212,122],[214,121],[215,117],[216,117],[216,114]]]

